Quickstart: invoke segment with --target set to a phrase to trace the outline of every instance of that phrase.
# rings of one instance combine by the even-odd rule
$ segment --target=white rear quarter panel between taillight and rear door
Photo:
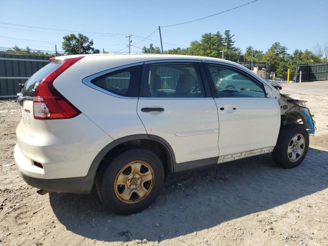
[[[111,96],[82,83],[83,78],[92,74],[138,62],[140,57],[126,55],[86,56],[61,74],[54,87],[113,139],[146,134],[136,113],[137,98]]]

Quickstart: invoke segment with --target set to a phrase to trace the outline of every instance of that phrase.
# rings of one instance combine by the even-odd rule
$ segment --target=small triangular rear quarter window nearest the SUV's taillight
[[[126,97],[138,97],[143,65],[118,69],[91,80],[108,92]]]

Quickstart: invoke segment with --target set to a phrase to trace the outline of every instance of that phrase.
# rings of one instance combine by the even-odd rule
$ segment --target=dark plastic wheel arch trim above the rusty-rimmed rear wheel
[[[101,166],[101,161],[121,148],[129,148],[133,146],[141,146],[154,151],[163,161],[165,176],[169,176],[174,172],[173,163],[175,163],[175,155],[170,144],[163,138],[156,135],[135,134],[118,138],[107,146],[105,146],[93,159],[87,176],[84,178],[83,190],[90,193],[97,171]],[[116,153],[116,152],[115,152]],[[89,191],[89,192],[88,192]]]

